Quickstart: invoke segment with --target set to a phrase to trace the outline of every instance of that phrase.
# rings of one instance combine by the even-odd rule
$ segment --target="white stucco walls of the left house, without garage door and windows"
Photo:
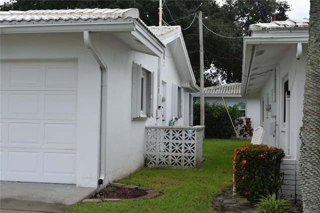
[[[158,57],[132,51],[112,34],[91,34],[92,43],[107,65],[106,179],[119,179],[143,166],[145,125],[155,125]],[[167,55],[171,53],[166,51]],[[1,34],[1,59],[66,59],[78,61],[76,185],[97,187],[100,157],[101,71],[85,47],[83,33]],[[131,119],[132,62],[154,72],[153,117]],[[172,82],[180,85],[172,58],[162,62],[166,82],[163,122],[171,117]],[[162,93],[163,93],[163,89]],[[184,92],[182,103],[188,93]],[[184,109],[186,108],[186,109]],[[182,114],[188,105],[182,107]],[[183,125],[183,117],[175,125]]]

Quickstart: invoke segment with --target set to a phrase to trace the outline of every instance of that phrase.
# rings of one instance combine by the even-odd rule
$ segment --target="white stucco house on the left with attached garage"
[[[179,26],[135,8],[0,11],[0,36],[3,181],[99,187],[144,165],[147,125],[192,119]]]

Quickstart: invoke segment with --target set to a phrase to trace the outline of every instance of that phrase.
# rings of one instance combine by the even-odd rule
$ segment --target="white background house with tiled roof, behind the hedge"
[[[204,101],[212,104],[224,102],[227,106],[236,104],[242,113],[242,118],[250,117],[252,127],[260,124],[259,95],[241,96],[241,83],[226,83],[204,88]],[[194,101],[200,101],[200,93],[193,94]]]

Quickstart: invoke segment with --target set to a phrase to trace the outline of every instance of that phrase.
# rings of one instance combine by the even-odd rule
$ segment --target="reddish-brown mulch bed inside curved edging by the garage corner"
[[[139,188],[126,188],[117,186],[106,186],[102,188],[99,192],[92,195],[90,198],[118,198],[118,199],[129,199],[136,198],[146,195],[145,190]]]

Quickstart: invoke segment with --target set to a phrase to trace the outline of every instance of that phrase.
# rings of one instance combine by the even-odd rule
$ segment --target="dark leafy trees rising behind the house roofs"
[[[180,25],[195,78],[199,82],[199,37],[196,12],[202,11],[204,45],[204,86],[241,81],[242,36],[249,24],[269,22],[271,12],[285,20],[290,9],[285,0],[162,0],[164,25]],[[10,0],[1,10],[73,9],[73,8],[139,9],[147,25],[158,24],[158,1],[155,0]],[[210,69],[211,68],[211,69]]]

